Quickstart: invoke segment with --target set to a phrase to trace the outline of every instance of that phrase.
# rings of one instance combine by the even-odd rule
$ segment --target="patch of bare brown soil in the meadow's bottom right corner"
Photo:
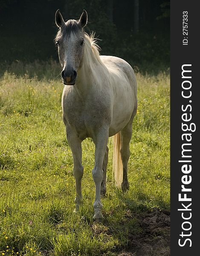
[[[130,250],[118,256],[170,256],[170,212],[153,209],[151,213],[133,215],[143,232],[130,237]]]

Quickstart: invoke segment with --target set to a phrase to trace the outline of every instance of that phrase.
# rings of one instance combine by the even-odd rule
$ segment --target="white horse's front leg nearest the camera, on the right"
[[[93,138],[95,143],[95,166],[93,169],[93,180],[96,187],[94,207],[94,219],[100,221],[103,218],[101,213],[101,183],[104,178],[103,161],[107,148],[108,129],[101,129],[99,133]]]

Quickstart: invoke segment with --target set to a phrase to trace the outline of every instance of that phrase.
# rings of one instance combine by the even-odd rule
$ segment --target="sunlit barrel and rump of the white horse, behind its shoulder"
[[[110,136],[121,131],[137,108],[137,84],[133,68],[125,60],[114,56],[101,56],[107,67],[113,87],[113,113]]]

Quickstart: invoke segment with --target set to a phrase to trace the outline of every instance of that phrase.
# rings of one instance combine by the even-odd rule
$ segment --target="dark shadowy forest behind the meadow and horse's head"
[[[169,67],[169,9],[165,0],[0,0],[0,64],[58,60],[55,12],[64,19],[88,13],[101,55],[124,58],[141,71]]]

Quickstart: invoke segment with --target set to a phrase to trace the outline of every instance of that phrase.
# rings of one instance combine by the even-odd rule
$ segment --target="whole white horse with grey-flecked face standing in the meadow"
[[[84,32],[87,12],[80,19],[64,22],[58,10],[55,22],[59,31],[55,38],[65,84],[62,95],[63,120],[73,155],[76,183],[76,210],[82,200],[83,176],[81,142],[92,138],[95,143],[93,180],[96,198],[94,218],[99,221],[101,195],[106,193],[108,137],[113,140],[113,173],[116,186],[129,188],[127,171],[133,117],[137,109],[137,86],[132,67],[121,58],[100,56],[93,35]],[[121,157],[120,157],[121,154]]]

